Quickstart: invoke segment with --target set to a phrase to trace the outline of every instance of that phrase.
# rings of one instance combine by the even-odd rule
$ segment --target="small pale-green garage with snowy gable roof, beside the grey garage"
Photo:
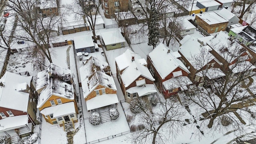
[[[123,48],[126,40],[122,36],[119,30],[113,30],[110,32],[101,33],[102,40],[106,46],[106,50],[113,50],[116,48]]]

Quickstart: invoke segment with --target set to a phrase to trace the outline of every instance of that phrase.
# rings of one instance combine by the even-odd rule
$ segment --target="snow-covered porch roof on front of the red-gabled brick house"
[[[187,76],[173,77],[163,82],[163,85],[166,88],[166,90],[170,90],[173,88],[181,88],[183,86],[187,86],[190,84],[192,84],[192,82]]]

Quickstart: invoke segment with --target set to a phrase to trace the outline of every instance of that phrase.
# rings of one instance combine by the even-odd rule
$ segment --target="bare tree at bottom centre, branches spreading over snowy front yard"
[[[182,130],[182,118],[186,110],[170,99],[160,102],[158,106],[162,109],[152,113],[140,107],[140,130],[132,134],[134,143],[145,144],[152,141],[152,144],[164,144],[170,136],[175,137]]]

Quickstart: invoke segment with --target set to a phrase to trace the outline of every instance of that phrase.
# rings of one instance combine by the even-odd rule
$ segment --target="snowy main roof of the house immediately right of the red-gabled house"
[[[178,50],[196,70],[200,70],[200,68],[202,68],[203,66],[208,64],[208,62],[210,62],[215,58],[210,52],[208,52],[208,50],[211,50],[211,48],[209,46],[204,46],[206,42],[211,38],[213,38],[213,36],[206,36],[206,37],[196,39],[196,38],[192,38],[189,35],[186,35],[183,38],[184,39],[184,41],[182,41],[183,44],[180,46]],[[200,44],[200,42],[204,44]],[[207,54],[205,54],[204,52],[207,52]],[[198,58],[199,56],[201,56],[200,58],[202,58],[199,61],[200,64],[196,63],[194,60],[194,57],[197,55],[198,55]]]

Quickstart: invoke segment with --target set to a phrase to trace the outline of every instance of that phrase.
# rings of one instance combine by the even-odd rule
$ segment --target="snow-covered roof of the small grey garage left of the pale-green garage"
[[[74,37],[75,48],[88,48],[94,46],[92,36],[90,34]]]

